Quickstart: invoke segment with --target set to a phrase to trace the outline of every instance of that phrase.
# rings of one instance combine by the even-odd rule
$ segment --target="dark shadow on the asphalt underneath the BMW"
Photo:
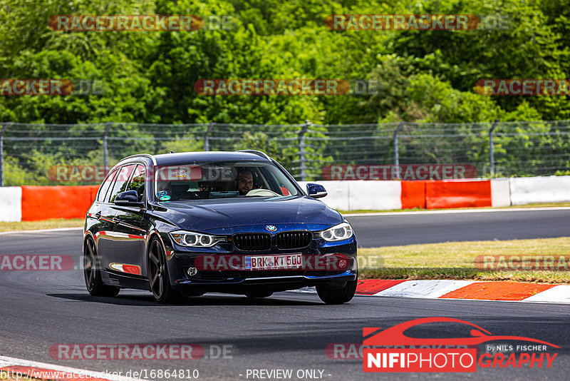
[[[114,305],[144,305],[156,307],[168,307],[173,305],[162,305],[156,303],[152,299],[152,295],[118,295],[115,298],[91,296],[88,294],[46,294],[53,298],[62,298],[68,300],[75,300],[90,303],[106,303]],[[257,298],[249,299],[243,295],[204,295],[195,298],[187,298],[179,306],[184,305],[323,305],[323,303],[316,299],[309,300],[294,300],[285,299],[285,295],[273,296],[271,298]],[[176,305],[174,305],[176,306]]]

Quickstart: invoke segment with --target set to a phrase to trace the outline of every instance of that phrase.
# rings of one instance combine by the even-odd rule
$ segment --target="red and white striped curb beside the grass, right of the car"
[[[301,292],[314,293],[314,288]],[[570,303],[570,285],[475,280],[358,281],[356,295],[395,298],[499,300],[538,303]]]

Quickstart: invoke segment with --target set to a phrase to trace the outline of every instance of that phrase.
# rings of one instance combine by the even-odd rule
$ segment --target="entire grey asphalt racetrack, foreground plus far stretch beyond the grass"
[[[363,246],[570,235],[570,210],[385,215],[348,220]],[[261,380],[252,377],[252,370],[278,369],[292,370],[293,377],[287,380],[311,379],[307,375],[314,375],[313,380],[459,376],[474,380],[564,380],[570,369],[569,305],[358,296],[347,305],[328,306],[315,294],[294,292],[254,301],[235,295],[206,294],[192,298],[186,305],[157,305],[150,293],[138,291],[123,290],[117,298],[90,297],[83,272],[78,268],[81,230],[0,235],[0,255],[8,254],[71,255],[77,268],[0,271],[0,355],[4,356],[96,371],[197,369],[201,380]],[[556,350],[559,355],[550,369],[478,368],[476,373],[461,375],[365,374],[360,359],[333,359],[326,355],[329,344],[361,343],[363,327],[387,328],[434,316],[467,320],[493,335],[552,342],[561,349]],[[465,327],[455,323],[415,331],[417,337],[468,334]],[[186,361],[59,360],[50,353],[53,345],[92,343],[199,344],[205,355]],[[220,348],[226,349],[225,356],[220,355]]]

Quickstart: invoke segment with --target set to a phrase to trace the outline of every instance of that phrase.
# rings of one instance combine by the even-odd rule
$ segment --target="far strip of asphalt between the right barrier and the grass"
[[[413,245],[470,240],[525,240],[570,236],[570,208],[437,210],[346,215],[358,246]]]

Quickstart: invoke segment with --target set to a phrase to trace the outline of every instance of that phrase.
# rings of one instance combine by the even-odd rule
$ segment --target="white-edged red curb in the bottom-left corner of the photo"
[[[0,377],[0,379],[14,378],[18,380],[23,380],[26,377],[57,381],[140,381],[138,378],[113,375],[113,372],[95,372],[74,367],[61,367],[45,362],[6,356],[0,356],[0,375],[7,376]]]

